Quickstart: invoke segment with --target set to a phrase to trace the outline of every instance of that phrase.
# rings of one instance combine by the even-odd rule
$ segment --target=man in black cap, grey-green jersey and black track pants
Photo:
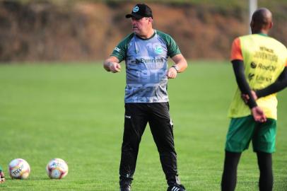
[[[139,143],[148,123],[158,147],[168,190],[184,191],[177,175],[167,83],[187,68],[187,61],[170,35],[153,29],[153,14],[146,4],[136,4],[126,18],[131,18],[133,33],[119,42],[103,64],[105,70],[117,73],[121,71],[119,62],[126,62],[120,190],[131,190]],[[174,62],[170,68],[168,57]]]

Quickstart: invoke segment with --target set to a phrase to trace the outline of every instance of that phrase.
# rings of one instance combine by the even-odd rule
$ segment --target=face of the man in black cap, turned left
[[[136,33],[136,35],[146,35],[149,28],[151,28],[152,18],[143,17],[143,18],[131,18],[132,31]]]

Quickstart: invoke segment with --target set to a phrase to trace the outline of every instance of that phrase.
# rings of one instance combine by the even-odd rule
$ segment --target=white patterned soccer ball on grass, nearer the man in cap
[[[53,158],[46,167],[49,178],[61,179],[68,174],[68,165],[61,158]]]

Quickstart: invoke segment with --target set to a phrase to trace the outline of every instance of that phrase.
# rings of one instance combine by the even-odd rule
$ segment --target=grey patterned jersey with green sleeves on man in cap
[[[119,42],[111,56],[126,62],[124,102],[168,102],[168,57],[176,54],[181,53],[175,40],[158,30],[148,39],[131,33]]]

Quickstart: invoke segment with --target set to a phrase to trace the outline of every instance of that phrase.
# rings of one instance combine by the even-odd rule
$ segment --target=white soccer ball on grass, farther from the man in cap
[[[16,179],[27,179],[30,174],[30,166],[22,158],[16,158],[9,163],[10,177]]]

